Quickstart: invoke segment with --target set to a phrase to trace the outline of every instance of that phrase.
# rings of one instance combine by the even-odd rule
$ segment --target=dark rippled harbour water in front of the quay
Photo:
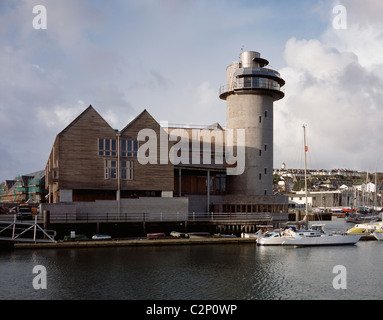
[[[343,219],[326,229],[350,228]],[[335,266],[344,266],[336,289]],[[35,266],[46,289],[33,285]],[[40,274],[41,275],[41,274]],[[0,299],[257,300],[383,298],[383,242],[346,247],[214,244],[0,252]]]

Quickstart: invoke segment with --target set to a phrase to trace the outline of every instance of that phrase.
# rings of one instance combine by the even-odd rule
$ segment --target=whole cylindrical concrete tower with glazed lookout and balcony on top
[[[273,102],[284,97],[285,81],[265,68],[258,52],[241,53],[240,62],[227,67],[227,83],[219,97],[226,100],[226,128],[245,129],[245,171],[228,177],[231,194],[273,194]]]

